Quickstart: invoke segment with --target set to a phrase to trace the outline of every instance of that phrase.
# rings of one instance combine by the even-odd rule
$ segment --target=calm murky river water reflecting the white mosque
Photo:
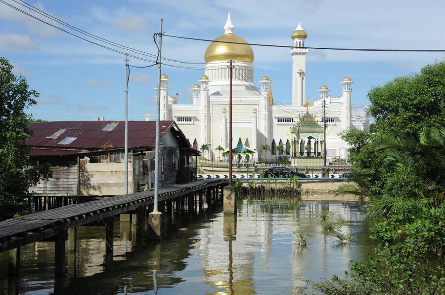
[[[334,213],[356,241],[339,246],[325,235],[322,211]],[[1,253],[0,288],[20,294],[301,294],[308,278],[343,277],[350,260],[365,260],[374,248],[356,202],[245,199],[236,216],[217,210],[186,226],[160,243],[141,244],[134,225],[116,219],[111,263],[104,263],[104,228],[80,227],[78,253],[67,251],[68,274],[56,281],[53,243],[22,247],[20,274],[9,285],[7,253]],[[293,245],[297,228],[310,235],[304,249]]]

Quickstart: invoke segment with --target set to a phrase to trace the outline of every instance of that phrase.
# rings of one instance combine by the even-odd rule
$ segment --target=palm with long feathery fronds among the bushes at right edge
[[[368,198],[369,213],[390,213],[401,202],[425,202],[435,207],[445,200],[445,119],[434,118],[433,126],[423,127],[418,134],[407,133],[399,137],[387,135],[378,147],[401,171],[416,180],[417,187],[409,197],[376,197],[366,189],[365,179],[358,173],[351,174],[353,183],[339,187],[339,194],[352,193],[361,200]]]

